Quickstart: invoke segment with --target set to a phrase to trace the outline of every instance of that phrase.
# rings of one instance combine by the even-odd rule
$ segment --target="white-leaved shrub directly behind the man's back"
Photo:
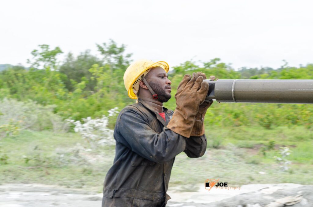
[[[109,117],[118,113],[118,108],[110,109]],[[80,133],[83,139],[86,139],[92,148],[95,148],[98,144],[104,146],[105,144],[113,145],[115,140],[113,138],[113,130],[107,127],[109,118],[105,115],[102,118],[91,119],[87,117],[81,121],[75,121],[73,119],[67,119],[71,124],[74,124],[74,131]]]

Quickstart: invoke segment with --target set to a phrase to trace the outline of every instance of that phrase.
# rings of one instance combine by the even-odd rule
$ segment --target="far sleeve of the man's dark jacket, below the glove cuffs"
[[[188,157],[197,158],[202,157],[207,149],[207,138],[205,134],[200,137],[190,137],[186,139],[186,149],[184,152]]]

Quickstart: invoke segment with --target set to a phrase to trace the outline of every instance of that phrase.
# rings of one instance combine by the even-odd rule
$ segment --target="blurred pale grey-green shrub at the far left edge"
[[[26,102],[8,98],[0,100],[0,129],[6,131],[2,135],[11,135],[16,130],[23,129],[67,131],[69,124],[53,113],[54,108],[53,105],[42,106],[32,100]]]

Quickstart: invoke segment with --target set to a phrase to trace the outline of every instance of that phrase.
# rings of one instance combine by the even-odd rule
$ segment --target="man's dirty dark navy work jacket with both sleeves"
[[[145,101],[126,106],[114,129],[115,159],[106,174],[103,195],[165,200],[175,156],[201,157],[207,147],[205,135],[185,138],[167,129],[173,111],[163,107],[166,121]]]

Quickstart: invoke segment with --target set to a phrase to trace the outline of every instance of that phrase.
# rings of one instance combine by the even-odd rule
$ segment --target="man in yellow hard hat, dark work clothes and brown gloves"
[[[128,95],[137,103],[122,109],[116,120],[115,159],[105,177],[103,207],[165,206],[175,156],[185,152],[197,158],[206,150],[203,119],[212,103],[204,102],[205,74],[184,76],[173,112],[163,107],[171,98],[168,70],[166,62],[144,59],[124,74]]]

